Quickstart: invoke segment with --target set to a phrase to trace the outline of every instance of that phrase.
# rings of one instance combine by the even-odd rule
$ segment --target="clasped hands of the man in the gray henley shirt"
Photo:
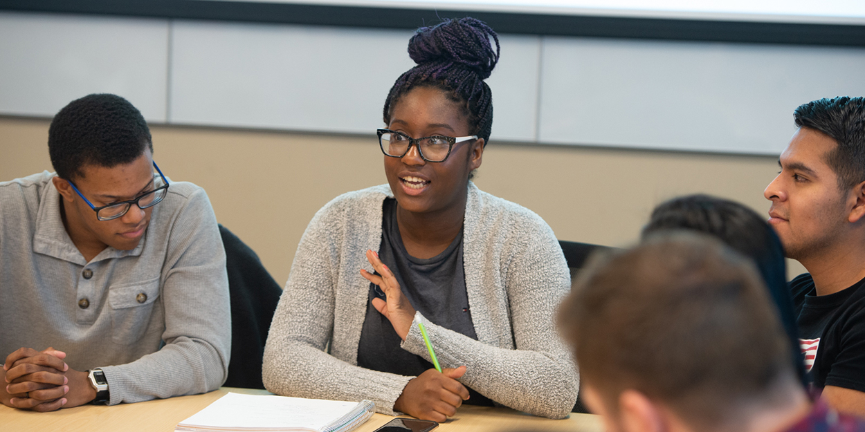
[[[11,353],[3,365],[5,387],[0,389],[0,403],[45,412],[92,401],[96,391],[87,373],[75,371],[63,359],[66,353],[50,347]]]

